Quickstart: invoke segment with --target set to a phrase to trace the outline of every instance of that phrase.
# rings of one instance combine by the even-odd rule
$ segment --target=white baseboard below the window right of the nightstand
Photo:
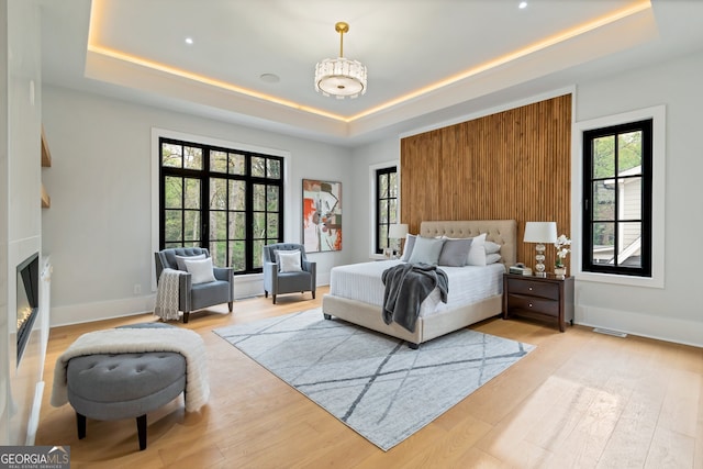
[[[703,323],[695,321],[579,305],[576,308],[574,322],[589,327],[603,327],[640,337],[703,347]]]

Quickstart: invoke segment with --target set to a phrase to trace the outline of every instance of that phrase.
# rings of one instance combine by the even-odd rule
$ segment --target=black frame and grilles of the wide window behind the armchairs
[[[226,265],[231,265],[231,249],[230,243],[231,239],[210,239],[210,206],[209,206],[209,198],[210,198],[210,180],[211,178],[217,179],[226,179],[226,180],[235,180],[235,181],[244,181],[246,186],[246,197],[245,197],[245,268],[243,270],[234,270],[234,275],[246,275],[246,273],[259,273],[263,271],[261,259],[260,256],[256,257],[255,252],[255,242],[260,242],[264,239],[264,244],[269,244],[272,242],[282,242],[284,238],[284,158],[276,155],[267,155],[257,152],[243,150],[237,148],[227,148],[217,145],[203,144],[198,142],[189,142],[182,141],[178,138],[158,137],[158,148],[159,148],[159,249],[164,249],[166,247],[167,239],[166,237],[166,192],[165,192],[165,182],[167,177],[186,177],[191,179],[197,179],[200,181],[200,238],[199,239],[181,239],[180,243],[182,246],[193,246],[198,245],[199,247],[205,247],[210,249],[211,242],[224,242],[227,246],[226,252]],[[185,167],[171,167],[164,166],[163,161],[163,147],[164,144],[171,145],[181,145],[188,147],[194,147],[202,150],[202,169],[192,169]],[[210,155],[211,152],[225,152],[228,154],[242,155],[245,158],[245,175],[239,174],[224,174],[211,170],[210,168]],[[280,166],[280,177],[278,178],[268,178],[260,176],[253,176],[252,174],[252,160],[253,158],[265,158],[268,160],[277,160]],[[268,167],[268,165],[266,165]],[[271,213],[278,213],[278,226],[277,233],[268,233],[268,228],[265,233],[265,237],[256,237],[254,236],[254,214],[261,213],[261,210],[254,210],[254,186],[255,185],[265,185],[265,186],[276,186],[278,188],[278,210],[271,211]],[[228,189],[227,189],[228,190]],[[185,197],[185,196],[183,196]],[[227,201],[227,203],[230,203]],[[182,209],[183,211],[187,209]],[[233,212],[227,208],[227,212]],[[265,213],[268,213],[266,210]],[[228,217],[230,215],[225,215]],[[227,219],[228,220],[228,219]],[[268,225],[268,223],[266,223]],[[168,241],[169,247],[172,247],[174,244],[179,243],[178,241]],[[258,266],[257,266],[258,264]],[[224,266],[217,266],[224,267]]]

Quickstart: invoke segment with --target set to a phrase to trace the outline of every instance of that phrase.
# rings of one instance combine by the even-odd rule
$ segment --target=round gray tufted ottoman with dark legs
[[[186,390],[186,358],[175,351],[87,355],[68,361],[66,378],[79,439],[86,436],[86,417],[136,417],[140,449],[144,449],[146,413]]]

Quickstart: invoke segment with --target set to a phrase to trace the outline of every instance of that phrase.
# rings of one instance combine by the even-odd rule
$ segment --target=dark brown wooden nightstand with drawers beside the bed
[[[525,316],[573,325],[573,277],[503,275],[503,319]]]

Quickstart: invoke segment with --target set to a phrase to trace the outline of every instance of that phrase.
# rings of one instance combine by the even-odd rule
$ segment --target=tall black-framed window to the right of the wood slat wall
[[[582,270],[651,277],[651,119],[583,132],[582,200]]]

